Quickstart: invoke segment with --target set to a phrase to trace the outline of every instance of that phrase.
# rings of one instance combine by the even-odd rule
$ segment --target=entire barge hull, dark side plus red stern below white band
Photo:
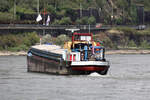
[[[84,65],[74,66],[69,61],[53,60],[37,55],[27,56],[28,72],[40,72],[58,75],[90,74],[108,70],[108,66]]]

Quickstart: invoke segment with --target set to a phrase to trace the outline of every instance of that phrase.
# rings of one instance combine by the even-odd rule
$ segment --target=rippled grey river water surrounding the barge
[[[28,73],[25,56],[0,57],[0,100],[150,100],[150,55],[107,55],[108,75]]]

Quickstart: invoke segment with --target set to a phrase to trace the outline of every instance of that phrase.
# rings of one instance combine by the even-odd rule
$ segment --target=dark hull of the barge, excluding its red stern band
[[[101,75],[106,75],[106,71],[79,71],[72,70],[71,62],[54,61],[48,58],[40,57],[37,55],[27,56],[28,72],[47,73],[55,75],[88,75],[91,72],[98,72]]]

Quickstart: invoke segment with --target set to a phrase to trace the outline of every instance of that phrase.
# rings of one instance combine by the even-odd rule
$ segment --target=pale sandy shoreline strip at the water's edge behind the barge
[[[112,54],[150,54],[150,50],[107,50],[105,52],[107,55]],[[0,51],[0,56],[26,56],[26,51],[10,52],[10,51]]]

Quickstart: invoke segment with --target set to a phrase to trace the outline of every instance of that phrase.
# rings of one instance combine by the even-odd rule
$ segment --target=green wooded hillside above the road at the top
[[[83,10],[97,9],[104,24],[136,24],[137,5],[144,5],[145,11],[150,11],[149,0],[0,0],[0,23],[14,23],[21,21],[21,14],[43,13],[55,16],[53,24],[84,24],[96,23],[95,16],[87,18],[82,16]],[[79,17],[74,10],[80,10]],[[111,21],[111,23],[110,23]],[[89,23],[90,22],[90,23]],[[24,20],[23,23],[35,23]]]

